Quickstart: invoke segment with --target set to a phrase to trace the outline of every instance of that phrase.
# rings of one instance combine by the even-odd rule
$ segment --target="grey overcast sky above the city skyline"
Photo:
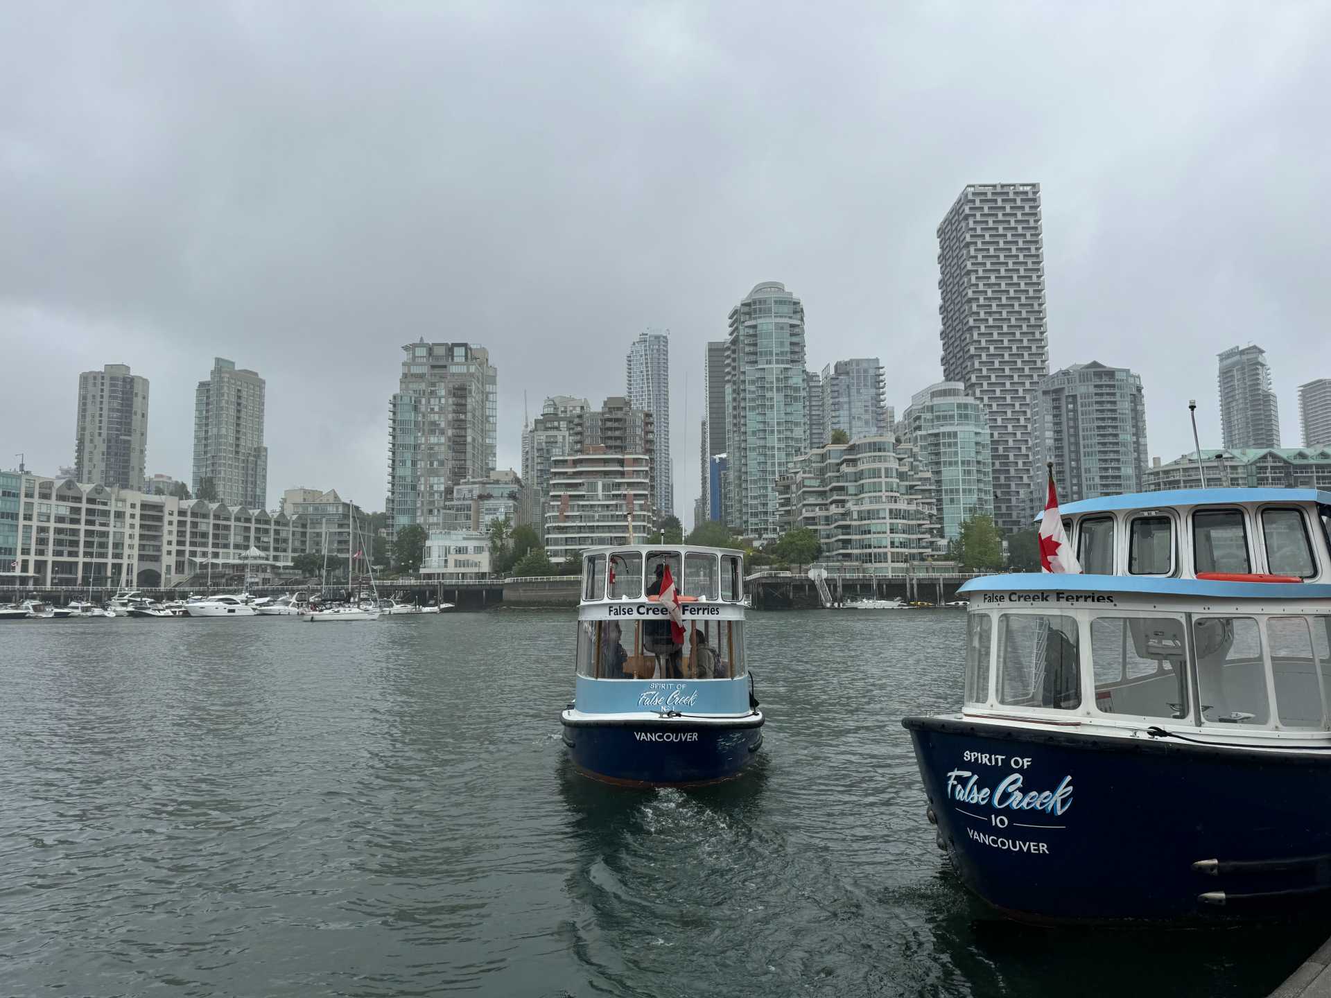
[[[7,3],[0,466],[73,463],[77,377],[152,382],[188,479],[214,355],[268,381],[269,504],[386,491],[402,343],[523,393],[624,391],[671,330],[676,511],[701,358],[757,282],[809,367],[941,379],[934,230],[1038,181],[1053,367],[1127,366],[1150,452],[1219,446],[1215,354],[1267,350],[1286,446],[1331,377],[1331,4]],[[685,427],[685,375],[688,399]]]

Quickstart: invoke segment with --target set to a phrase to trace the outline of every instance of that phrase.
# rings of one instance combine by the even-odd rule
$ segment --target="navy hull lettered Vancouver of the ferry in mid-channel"
[[[733,725],[564,719],[568,757],[584,774],[632,786],[699,786],[733,780],[763,744],[763,719]]]

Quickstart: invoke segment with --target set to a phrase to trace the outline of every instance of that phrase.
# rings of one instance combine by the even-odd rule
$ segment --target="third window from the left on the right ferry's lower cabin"
[[[1177,617],[1090,621],[1095,709],[1134,717],[1187,717],[1185,624]]]

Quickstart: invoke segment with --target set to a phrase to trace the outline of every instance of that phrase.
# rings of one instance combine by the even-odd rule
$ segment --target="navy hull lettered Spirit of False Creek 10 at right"
[[[908,717],[940,845],[1042,922],[1279,918],[1331,902],[1331,758]],[[1217,862],[1210,862],[1217,861]]]

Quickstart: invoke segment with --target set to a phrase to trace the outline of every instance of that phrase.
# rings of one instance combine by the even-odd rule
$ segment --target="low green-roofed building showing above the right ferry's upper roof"
[[[1209,488],[1331,488],[1331,447],[1202,448]],[[1197,452],[1153,463],[1143,491],[1201,488]]]

